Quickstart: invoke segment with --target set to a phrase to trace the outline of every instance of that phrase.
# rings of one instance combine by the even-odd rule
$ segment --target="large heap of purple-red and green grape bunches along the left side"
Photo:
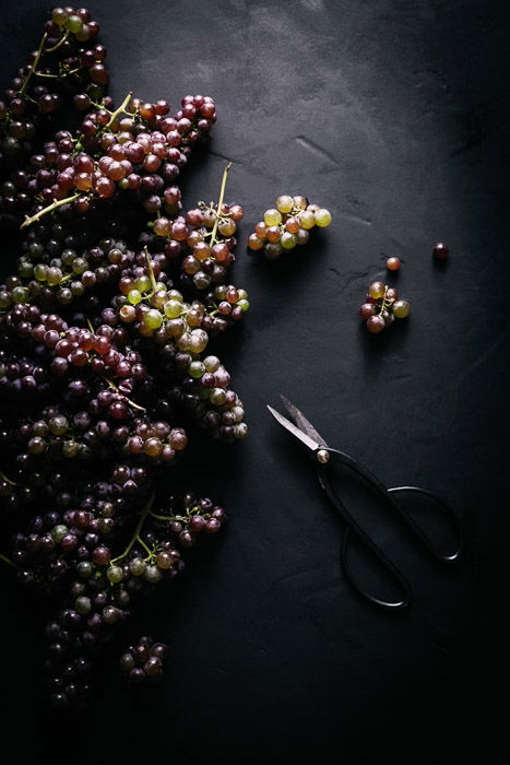
[[[224,201],[228,167],[216,202],[185,212],[177,186],[214,102],[185,96],[170,117],[129,94],[115,108],[97,28],[84,9],[56,9],[0,108],[3,140],[20,143],[0,166],[1,220],[19,226],[0,284],[0,557],[47,600],[61,708],[86,703],[97,652],[225,521],[209,497],[173,490],[197,426],[223,443],[248,432],[214,355],[249,309],[229,276],[244,210]],[[68,96],[76,128],[58,108]],[[15,109],[29,142],[9,132]],[[163,654],[144,638],[121,663],[140,681]]]

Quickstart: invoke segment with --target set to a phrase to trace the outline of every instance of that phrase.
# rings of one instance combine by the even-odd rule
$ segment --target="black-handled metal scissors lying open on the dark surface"
[[[442,563],[452,563],[453,561],[456,561],[461,553],[462,532],[456,515],[444,502],[442,502],[442,499],[425,489],[419,489],[418,486],[398,486],[394,489],[387,489],[378,478],[372,475],[356,459],[349,457],[349,455],[346,455],[343,451],[340,451],[339,449],[333,449],[328,446],[325,440],[317,433],[305,415],[284,396],[281,396],[281,399],[285,409],[287,410],[287,413],[294,420],[294,422],[290,422],[287,420],[287,417],[283,416],[280,414],[280,412],[268,404],[269,411],[276,422],[278,422],[288,433],[295,436],[301,446],[306,447],[308,455],[317,466],[320,485],[347,525],[341,548],[341,562],[347,581],[357,592],[359,592],[359,595],[381,608],[391,610],[406,608],[411,603],[411,587],[406,578],[389,560],[379,545],[376,544],[376,542],[366,533],[366,531],[364,531],[361,526],[356,521],[355,517],[347,508],[346,504],[342,501],[339,494],[341,482],[335,479],[334,471],[331,468],[336,464],[337,467],[347,468],[353,471],[358,479],[361,479],[363,483],[368,485],[382,505],[388,510],[395,514],[396,517],[404,522],[407,529],[410,529],[418,538],[424,548],[435,558]],[[403,505],[395,499],[395,497],[403,499],[405,496],[408,498],[410,495],[419,495],[422,499],[434,505],[437,510],[450,519],[455,537],[455,549],[452,552],[444,553],[439,550],[432,543],[430,537],[425,532],[425,530],[416,523],[414,518],[403,507]],[[393,584],[396,585],[399,596],[396,596],[393,600],[386,600],[371,595],[365,589],[364,585],[356,579],[355,573],[349,565],[348,553],[351,546],[349,542],[353,536],[357,538],[357,541],[364,545],[369,554],[377,558],[379,565],[382,566],[386,574],[390,577]]]

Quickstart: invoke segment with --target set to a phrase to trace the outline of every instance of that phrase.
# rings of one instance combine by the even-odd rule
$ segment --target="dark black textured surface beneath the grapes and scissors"
[[[506,742],[508,610],[507,239],[509,16],[503,0],[103,0],[116,99],[201,92],[218,106],[191,205],[247,215],[234,280],[252,310],[222,344],[250,437],[182,464],[225,504],[225,532],[137,623],[171,645],[162,686],[137,702],[105,669],[80,721],[38,695],[37,608],[2,578],[3,745],[19,762],[394,763],[489,760]],[[2,0],[2,82],[50,9]],[[245,255],[282,192],[333,224],[275,263]],[[437,240],[451,248],[432,262]],[[368,282],[394,280],[412,317],[369,336]],[[339,566],[342,527],[301,452],[265,411],[286,393],[388,485],[448,499],[466,549],[449,570],[396,545],[415,593],[372,610]],[[14,723],[23,727],[14,735]]]

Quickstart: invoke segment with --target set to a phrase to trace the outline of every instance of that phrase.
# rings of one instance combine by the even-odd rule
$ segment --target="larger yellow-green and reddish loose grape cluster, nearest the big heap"
[[[275,208],[266,210],[264,220],[257,223],[248,247],[252,250],[263,249],[265,257],[274,260],[285,250],[308,244],[315,226],[322,228],[330,223],[329,210],[310,204],[303,196],[282,195],[276,199]]]

